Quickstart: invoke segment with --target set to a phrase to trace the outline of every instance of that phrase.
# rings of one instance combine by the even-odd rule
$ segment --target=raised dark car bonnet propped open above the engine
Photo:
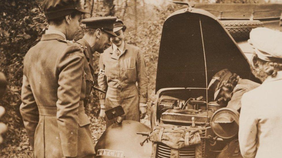
[[[213,75],[225,68],[253,79],[246,57],[213,14],[189,7],[165,20],[156,92],[171,87],[207,88]]]

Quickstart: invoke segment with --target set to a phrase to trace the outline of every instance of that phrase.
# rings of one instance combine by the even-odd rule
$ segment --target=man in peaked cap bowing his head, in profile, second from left
[[[110,38],[116,37],[113,32],[113,25],[116,17],[92,17],[82,20],[86,24],[84,37],[76,41],[84,53],[88,63],[84,66],[86,75],[86,94],[84,97],[84,106],[87,106],[93,86],[94,65],[92,54],[94,52],[103,53],[111,45]]]

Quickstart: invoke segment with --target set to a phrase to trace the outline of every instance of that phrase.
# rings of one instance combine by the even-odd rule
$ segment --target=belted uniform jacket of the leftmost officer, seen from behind
[[[58,34],[43,35],[25,55],[20,112],[35,157],[94,154],[83,106],[86,62],[80,47]]]

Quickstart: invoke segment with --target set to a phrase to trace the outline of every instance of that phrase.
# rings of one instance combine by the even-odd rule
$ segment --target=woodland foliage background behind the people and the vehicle
[[[275,0],[267,0],[273,2]],[[264,0],[194,0],[205,3],[261,3]],[[23,76],[23,58],[27,50],[47,27],[45,16],[40,7],[42,0],[0,0],[0,71],[4,72],[8,81],[8,91],[0,100],[0,105],[6,109],[0,119],[8,125],[8,132],[0,145],[0,157],[31,157],[32,149],[23,128],[19,113],[20,94]],[[125,40],[137,45],[144,51],[147,74],[149,79],[149,102],[154,99],[157,56],[162,24],[166,17],[179,9],[180,5],[168,0],[81,0],[83,6],[91,11],[90,16],[118,16],[127,26]],[[84,26],[78,31],[75,39],[84,33]],[[94,54],[98,63],[99,54]],[[98,68],[96,67],[96,75]],[[149,114],[148,106],[148,114]],[[92,121],[92,136],[97,142],[105,130],[105,122],[99,119],[97,94],[88,106]],[[142,122],[149,125],[149,116]]]

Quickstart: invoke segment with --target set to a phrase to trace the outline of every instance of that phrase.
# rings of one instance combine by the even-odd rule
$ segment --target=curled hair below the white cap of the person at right
[[[268,76],[275,77],[278,71],[282,71],[282,60],[269,62],[258,58],[257,54],[253,55],[251,71],[261,81],[264,81]]]

